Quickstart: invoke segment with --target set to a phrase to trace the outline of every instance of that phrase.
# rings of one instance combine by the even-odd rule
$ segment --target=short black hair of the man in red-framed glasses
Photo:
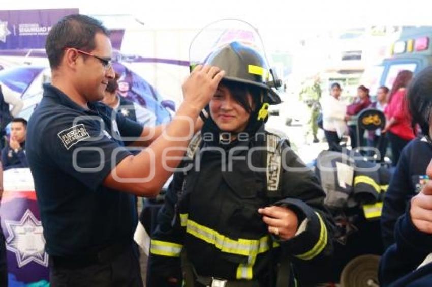
[[[95,35],[109,35],[101,21],[79,14],[61,18],[52,26],[45,43],[51,69],[58,68],[66,47],[89,52],[96,48]]]

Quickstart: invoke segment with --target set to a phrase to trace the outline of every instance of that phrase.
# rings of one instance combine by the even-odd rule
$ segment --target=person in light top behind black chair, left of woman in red
[[[377,90],[377,101],[373,102],[369,107],[378,109],[384,112],[385,107],[387,106],[387,94],[389,90],[383,85]],[[382,133],[381,129],[377,129],[375,131],[369,131],[367,136],[367,145],[369,147],[374,147],[378,149],[380,152],[379,157],[377,155],[377,160],[380,162],[384,162],[384,157],[387,151],[387,136]],[[373,154],[371,154],[373,156]]]

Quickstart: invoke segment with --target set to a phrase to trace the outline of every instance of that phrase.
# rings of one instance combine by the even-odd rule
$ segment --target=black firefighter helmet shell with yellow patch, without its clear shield
[[[262,55],[250,46],[240,42],[231,42],[211,52],[204,65],[217,66],[225,71],[223,79],[242,82],[262,88],[263,102],[270,105],[281,103],[281,98],[271,89],[276,86],[276,80]],[[270,77],[272,79],[270,80]]]

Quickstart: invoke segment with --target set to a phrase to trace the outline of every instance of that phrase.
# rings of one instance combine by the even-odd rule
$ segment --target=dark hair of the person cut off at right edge
[[[408,108],[414,132],[418,124],[423,135],[429,135],[432,108],[432,67],[427,67],[415,76],[407,92]]]

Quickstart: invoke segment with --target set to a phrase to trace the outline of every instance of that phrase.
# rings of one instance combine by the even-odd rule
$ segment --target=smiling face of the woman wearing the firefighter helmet
[[[252,96],[249,93],[247,95],[252,106]],[[231,91],[223,84],[219,85],[209,107],[211,118],[222,131],[239,133],[248,125],[250,113],[236,101]]]

